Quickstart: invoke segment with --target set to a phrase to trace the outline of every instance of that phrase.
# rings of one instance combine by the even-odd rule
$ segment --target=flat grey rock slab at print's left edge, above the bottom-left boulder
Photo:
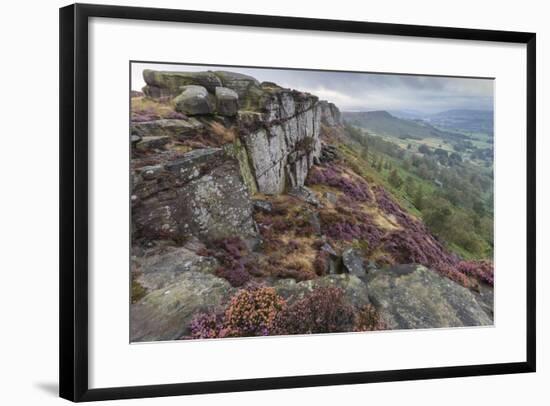
[[[184,272],[213,273],[219,266],[212,257],[203,257],[184,247],[169,247],[161,252],[133,258],[138,282],[148,290],[174,283]]]

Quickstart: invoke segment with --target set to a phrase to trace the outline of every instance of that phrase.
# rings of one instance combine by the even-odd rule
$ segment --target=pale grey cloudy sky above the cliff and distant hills
[[[310,92],[342,111],[414,110],[436,113],[450,109],[493,109],[491,79],[465,79],[377,73],[232,68],[198,65],[132,64],[132,89],[145,85],[144,69],[163,71],[226,70],[244,73],[260,82]]]

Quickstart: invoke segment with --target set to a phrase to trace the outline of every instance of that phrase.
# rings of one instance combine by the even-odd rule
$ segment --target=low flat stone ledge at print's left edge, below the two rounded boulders
[[[132,123],[131,132],[140,137],[167,136],[185,139],[186,137],[196,135],[203,128],[204,124],[195,118],[189,118],[188,120],[164,119]]]

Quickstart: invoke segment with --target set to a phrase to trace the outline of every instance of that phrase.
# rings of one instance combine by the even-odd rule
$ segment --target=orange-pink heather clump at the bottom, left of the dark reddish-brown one
[[[227,334],[235,337],[268,335],[285,304],[273,288],[239,291],[225,310]]]

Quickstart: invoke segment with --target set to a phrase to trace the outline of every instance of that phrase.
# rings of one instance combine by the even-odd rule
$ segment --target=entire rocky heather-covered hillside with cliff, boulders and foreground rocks
[[[228,72],[144,78],[132,341],[492,323],[492,264],[363,173],[335,105]]]

